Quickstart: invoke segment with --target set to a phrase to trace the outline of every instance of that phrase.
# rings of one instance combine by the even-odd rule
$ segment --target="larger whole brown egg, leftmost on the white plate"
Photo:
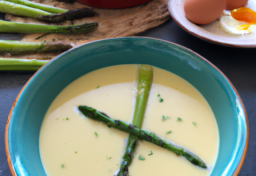
[[[184,11],[195,24],[208,24],[219,18],[226,7],[226,0],[186,0]]]

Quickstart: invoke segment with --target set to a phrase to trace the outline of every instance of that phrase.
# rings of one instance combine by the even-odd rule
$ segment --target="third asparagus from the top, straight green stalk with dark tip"
[[[0,20],[0,26],[0,32],[76,34],[82,32],[90,32],[98,26],[98,23],[87,23],[78,26],[52,26]]]

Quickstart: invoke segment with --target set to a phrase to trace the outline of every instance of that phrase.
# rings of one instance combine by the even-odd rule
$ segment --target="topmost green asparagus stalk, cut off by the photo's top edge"
[[[68,10],[66,10],[66,9],[56,8],[56,7],[48,6],[48,5],[45,5],[45,4],[32,2],[32,1],[29,1],[29,0],[6,0],[6,1],[13,2],[15,4],[21,4],[21,5],[24,5],[24,6],[31,7],[31,8],[40,9],[40,10],[43,10],[45,12],[49,12],[49,13],[52,13],[52,14],[61,14],[61,13],[64,13],[64,12],[68,12]]]

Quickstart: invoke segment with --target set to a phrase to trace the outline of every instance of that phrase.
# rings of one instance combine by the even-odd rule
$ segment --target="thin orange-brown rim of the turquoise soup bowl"
[[[246,112],[246,109],[244,107],[244,103],[242,102],[242,99],[240,98],[240,95],[238,94],[236,88],[233,86],[233,84],[230,82],[230,80],[214,65],[212,64],[210,61],[208,61],[206,58],[202,57],[201,55],[199,55],[198,53],[190,50],[189,48],[186,48],[184,46],[181,46],[179,44],[176,44],[176,43],[173,43],[173,42],[169,42],[169,41],[166,41],[166,40],[162,40],[162,39],[157,39],[157,38],[151,38],[151,37],[141,37],[141,36],[133,36],[133,37],[120,37],[120,38],[108,38],[108,39],[101,39],[101,40],[95,40],[95,41],[92,41],[92,42],[88,42],[88,43],[85,43],[85,44],[81,44],[81,45],[78,45],[78,46],[75,46],[74,48],[70,48],[69,50],[63,52],[62,54],[59,54],[58,56],[56,56],[54,59],[50,60],[49,62],[47,62],[46,64],[44,64],[44,66],[42,66],[39,70],[36,71],[36,73],[34,73],[34,75],[28,80],[28,82],[26,82],[26,84],[24,85],[24,87],[22,88],[22,90],[20,90],[20,93],[18,94],[16,100],[14,101],[14,104],[12,105],[12,108],[10,110],[10,114],[8,116],[8,120],[6,122],[6,130],[5,130],[5,149],[6,149],[6,156],[7,156],[7,160],[8,160],[8,164],[9,164],[9,167],[10,167],[10,170],[11,170],[11,173],[12,173],[12,176],[18,176],[17,173],[16,173],[16,170],[14,168],[14,164],[11,160],[11,157],[10,157],[10,151],[9,151],[9,144],[8,144],[8,129],[9,129],[9,124],[10,124],[10,120],[11,120],[11,116],[12,116],[12,112],[13,112],[13,108],[16,106],[16,103],[18,102],[19,98],[20,98],[20,95],[22,94],[22,92],[25,90],[26,86],[29,84],[29,82],[34,78],[34,76],[36,76],[36,74],[38,74],[41,69],[43,69],[44,67],[46,67],[48,64],[50,64],[51,62],[53,62],[54,60],[60,58],[62,55],[68,53],[68,52],[71,52],[72,50],[75,50],[76,48],[79,48],[81,46],[84,46],[84,45],[87,45],[87,44],[91,44],[91,43],[94,43],[94,42],[100,42],[100,41],[105,41],[105,40],[119,40],[119,39],[132,39],[132,38],[143,38],[143,39],[153,39],[153,40],[158,40],[158,41],[162,41],[162,42],[167,42],[169,44],[174,44],[176,46],[179,46],[181,48],[184,48],[186,50],[188,50],[189,52],[192,52],[193,54],[195,54],[196,56],[198,56],[199,58],[201,58],[202,60],[204,60],[205,62],[207,62],[208,64],[210,64],[210,66],[212,66],[213,68],[215,68],[225,79],[226,81],[230,84],[234,94],[236,94],[236,96],[239,98],[241,104],[242,104],[242,108],[244,110],[244,114],[245,114],[245,120],[246,120],[246,126],[247,126],[247,136],[246,136],[246,143],[245,143],[245,147],[244,147],[244,151],[242,153],[242,156],[241,156],[241,159],[238,163],[238,166],[234,172],[234,174],[232,176],[237,176],[238,173],[240,172],[241,168],[242,168],[242,165],[244,164],[244,160],[246,158],[246,154],[247,154],[247,150],[248,150],[248,143],[249,143],[249,122],[248,122],[248,116],[247,116],[247,112]]]

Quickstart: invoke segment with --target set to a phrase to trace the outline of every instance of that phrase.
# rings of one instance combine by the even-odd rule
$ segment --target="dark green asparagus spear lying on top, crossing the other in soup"
[[[146,130],[140,130],[134,124],[129,124],[128,122],[124,122],[122,120],[114,120],[111,119],[105,113],[99,112],[94,108],[89,106],[79,106],[78,109],[88,118],[92,120],[96,120],[99,122],[103,122],[108,126],[121,130],[123,132],[127,132],[129,134],[133,134],[137,136],[140,140],[146,140],[148,142],[152,142],[162,148],[165,148],[171,152],[174,152],[177,155],[184,156],[189,162],[192,164],[199,166],[201,168],[207,169],[206,164],[194,153],[192,153],[187,148],[180,146],[174,142],[166,140],[153,132],[148,132]]]

